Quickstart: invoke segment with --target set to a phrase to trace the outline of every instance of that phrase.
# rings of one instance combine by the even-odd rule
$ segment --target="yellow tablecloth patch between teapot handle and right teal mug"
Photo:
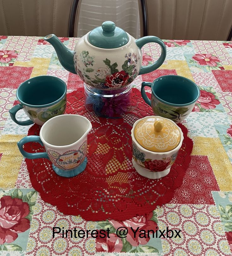
[[[191,71],[186,61],[167,61],[168,64],[163,64],[159,69],[175,69],[176,74],[184,76],[194,82]]]

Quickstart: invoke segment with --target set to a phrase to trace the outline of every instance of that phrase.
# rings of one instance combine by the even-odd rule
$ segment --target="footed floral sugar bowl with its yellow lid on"
[[[183,133],[172,120],[148,116],[137,120],[131,130],[132,163],[149,179],[169,174],[183,142]]]

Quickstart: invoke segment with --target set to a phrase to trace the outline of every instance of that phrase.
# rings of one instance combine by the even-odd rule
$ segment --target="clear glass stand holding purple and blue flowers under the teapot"
[[[85,107],[93,115],[120,118],[131,107],[132,83],[117,90],[96,89],[84,83]]]

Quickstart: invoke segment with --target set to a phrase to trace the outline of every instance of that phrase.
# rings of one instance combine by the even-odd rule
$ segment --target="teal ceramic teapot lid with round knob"
[[[112,49],[125,45],[128,42],[128,35],[123,29],[116,27],[114,22],[105,21],[101,27],[90,31],[88,40],[96,47]]]

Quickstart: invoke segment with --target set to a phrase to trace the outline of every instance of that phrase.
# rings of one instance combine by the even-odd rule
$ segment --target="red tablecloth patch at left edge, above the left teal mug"
[[[0,88],[17,89],[30,78],[33,67],[0,67]]]

